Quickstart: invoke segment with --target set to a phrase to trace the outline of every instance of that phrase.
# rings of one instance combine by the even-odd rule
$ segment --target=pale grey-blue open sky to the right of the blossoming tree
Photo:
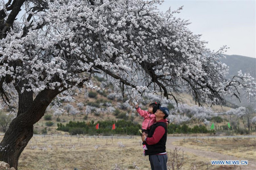
[[[229,47],[224,54],[256,58],[256,0],[165,0],[163,12],[184,6],[176,17],[189,20],[188,28],[202,34],[207,48]]]

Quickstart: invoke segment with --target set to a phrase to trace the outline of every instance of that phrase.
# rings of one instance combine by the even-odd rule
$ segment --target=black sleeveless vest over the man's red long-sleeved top
[[[146,142],[146,145],[147,145],[147,148],[148,150],[145,150],[145,154],[146,155],[155,155],[155,154],[158,154],[158,153],[163,153],[163,152],[166,152],[166,147],[165,147],[165,144],[166,144],[166,139],[167,139],[167,127],[166,127],[166,123],[165,122],[157,122],[157,123],[154,123],[151,127],[150,127],[150,130],[149,130],[149,133],[148,133],[148,137],[152,137],[154,132],[155,132],[155,129],[158,127],[158,126],[162,126],[165,128],[165,134],[164,136],[160,139],[160,141],[156,144],[153,144],[153,145],[148,145],[147,142]],[[147,141],[147,140],[146,140]]]

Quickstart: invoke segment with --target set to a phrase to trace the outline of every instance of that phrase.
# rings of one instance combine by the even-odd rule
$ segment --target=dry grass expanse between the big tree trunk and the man
[[[119,147],[118,142],[125,147]],[[140,137],[112,140],[47,135],[31,139],[20,156],[19,169],[113,169],[115,164],[133,169],[134,162],[140,169],[150,167],[148,157],[142,156]]]

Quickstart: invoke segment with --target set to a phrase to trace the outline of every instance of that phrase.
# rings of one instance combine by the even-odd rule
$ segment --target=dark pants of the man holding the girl
[[[167,154],[149,155],[151,170],[167,170]]]

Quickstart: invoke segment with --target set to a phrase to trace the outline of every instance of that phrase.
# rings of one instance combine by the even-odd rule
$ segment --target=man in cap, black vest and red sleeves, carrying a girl
[[[159,106],[155,113],[156,123],[154,123],[148,133],[148,136],[142,134],[142,141],[146,142],[148,150],[145,154],[149,155],[149,161],[152,170],[167,170],[167,154],[166,154],[166,139],[167,125],[166,118],[169,116],[167,107]]]

